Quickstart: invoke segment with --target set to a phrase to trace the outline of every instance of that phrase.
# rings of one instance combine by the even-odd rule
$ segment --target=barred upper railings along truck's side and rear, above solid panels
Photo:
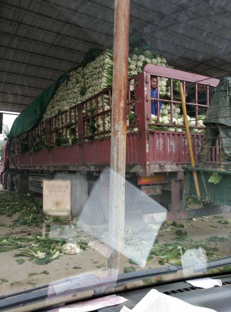
[[[169,103],[171,105],[171,115],[169,124],[160,122],[160,112],[157,109],[157,119],[153,122],[151,115],[151,97],[150,97],[150,77],[157,77],[157,85],[163,79],[168,80],[170,85],[170,94],[168,98],[160,95],[157,87],[157,105]],[[137,132],[149,130],[150,125],[155,126],[174,126],[184,127],[183,124],[173,123],[174,105],[180,105],[180,100],[174,94],[173,84],[180,80],[184,86],[185,94],[189,88],[195,87],[195,103],[187,103],[195,107],[195,127],[198,127],[198,107],[209,105],[209,87],[218,84],[219,80],[206,76],[178,71],[171,68],[147,64],[144,71],[136,76],[128,78],[128,101],[127,101],[127,132]],[[206,105],[198,101],[198,85],[203,84],[206,88]],[[33,152],[38,149],[47,149],[56,146],[66,146],[67,144],[82,144],[87,141],[102,139],[110,136],[111,132],[111,110],[112,110],[112,87],[106,88],[98,94],[84,100],[83,102],[60,112],[45,121],[40,122],[31,131],[20,134],[11,140],[11,153],[20,154]],[[203,135],[201,135],[203,137]],[[146,150],[145,140],[147,136],[140,136],[143,144],[140,144]],[[141,151],[140,151],[141,152]],[[145,156],[144,156],[145,157]],[[145,159],[143,159],[144,162]]]

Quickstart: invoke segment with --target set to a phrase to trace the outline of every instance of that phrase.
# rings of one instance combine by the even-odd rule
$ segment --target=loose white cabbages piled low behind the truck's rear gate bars
[[[185,128],[182,127],[184,125],[184,117],[180,115],[180,105],[172,104],[173,108],[173,116],[172,116],[172,124],[171,124],[171,104],[170,103],[162,103],[160,110],[160,119],[159,123],[163,124],[163,126],[152,126],[150,125],[149,129],[160,129],[162,131],[177,131],[182,132],[185,131]],[[190,117],[187,115],[188,124],[190,128],[190,132],[193,133],[205,133],[205,125],[203,121],[205,119],[205,115],[197,116],[197,127],[196,127],[196,119],[195,117]],[[152,123],[157,123],[157,116],[152,115]]]

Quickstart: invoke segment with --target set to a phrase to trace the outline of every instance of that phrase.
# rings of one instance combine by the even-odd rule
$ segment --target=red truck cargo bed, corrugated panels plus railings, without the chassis
[[[207,76],[186,73],[175,69],[148,64],[144,71],[128,79],[127,100],[127,171],[150,176],[155,172],[182,171],[181,164],[190,163],[184,131],[159,130],[163,124],[157,110],[157,120],[151,115],[150,78],[167,79],[170,83],[170,96],[161,99],[157,87],[156,101],[160,105],[171,106],[171,118],[165,128],[184,128],[183,124],[173,122],[173,107],[180,107],[180,101],[173,95],[173,80],[182,80],[186,87],[198,82],[205,84],[207,104],[209,105],[209,86],[217,85],[219,80]],[[32,168],[53,170],[98,171],[110,165],[110,130],[108,123],[112,113],[112,87],[102,90],[82,103],[43,120],[31,131],[12,138],[10,143],[10,168]],[[108,106],[104,107],[107,99]],[[102,104],[102,107],[99,105]],[[195,127],[200,103],[188,103],[195,108]],[[179,109],[180,110],[180,109]],[[107,124],[107,127],[106,127]],[[109,125],[110,127],[110,125]],[[155,130],[151,130],[155,128]],[[199,127],[200,128],[200,127]],[[173,128],[175,129],[175,128]],[[175,129],[175,130],[176,130]],[[181,129],[180,129],[181,130]],[[193,127],[191,128],[193,131]],[[203,129],[202,129],[203,130]],[[197,160],[204,134],[191,133],[192,145]],[[74,141],[73,141],[74,139]],[[59,145],[57,145],[57,141]],[[60,144],[61,142],[61,144]],[[219,144],[219,142],[217,142]],[[60,146],[60,147],[56,147]],[[43,149],[41,149],[41,147]],[[218,161],[218,145],[212,149],[210,161]],[[29,152],[31,151],[31,153]]]

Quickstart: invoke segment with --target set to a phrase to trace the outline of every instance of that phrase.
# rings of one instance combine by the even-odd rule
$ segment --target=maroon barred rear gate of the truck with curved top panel
[[[174,85],[177,87],[178,83],[181,81],[183,85],[183,90],[186,98],[186,107],[188,108],[189,113],[193,113],[195,117],[195,126],[190,126],[191,129],[193,128],[203,128],[198,126],[198,115],[199,115],[199,109],[207,109],[209,106],[209,90],[211,87],[214,87],[218,85],[219,79],[208,77],[208,76],[202,76],[194,73],[188,73],[185,71],[179,71],[172,68],[162,67],[162,66],[156,66],[148,64],[145,66],[144,71],[144,84],[145,84],[145,95],[144,100],[146,103],[146,114],[148,123],[149,124],[155,124],[155,125],[163,125],[163,123],[160,122],[160,112],[159,109],[157,109],[157,121],[152,122],[151,119],[151,98],[150,98],[150,89],[151,89],[151,76],[156,76],[157,78],[157,97],[155,100],[157,101],[158,108],[160,107],[160,101],[164,104],[169,104],[171,106],[170,110],[170,123],[167,124],[167,126],[176,126],[176,124],[173,123],[173,112],[174,107],[178,106],[180,107],[181,111],[181,101],[180,101],[180,93],[176,94],[176,90],[174,90]],[[169,85],[169,94],[168,98],[161,96],[160,92],[160,81],[168,81]],[[206,94],[205,99],[203,101],[199,100],[199,85],[204,86],[204,92]],[[191,90],[194,90],[193,92]],[[192,94],[193,93],[193,94]],[[194,97],[194,102],[187,101],[187,95],[191,95],[191,98]],[[204,104],[203,104],[204,103]],[[182,114],[182,111],[181,111]],[[183,125],[178,124],[178,127],[184,127]]]

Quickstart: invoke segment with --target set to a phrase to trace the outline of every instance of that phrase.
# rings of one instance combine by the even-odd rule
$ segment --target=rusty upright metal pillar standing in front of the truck
[[[115,0],[108,269],[123,273],[129,0]]]

